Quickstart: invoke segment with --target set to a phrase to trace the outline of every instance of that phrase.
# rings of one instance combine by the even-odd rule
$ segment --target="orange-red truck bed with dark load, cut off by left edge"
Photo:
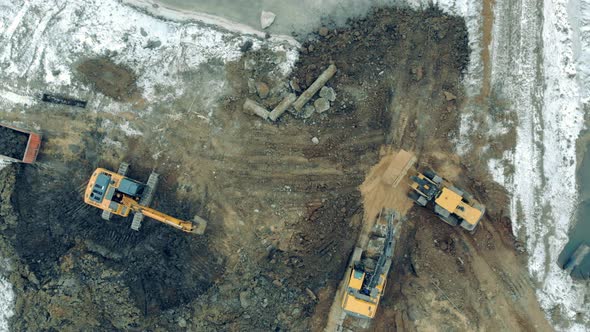
[[[37,159],[41,135],[0,124],[0,155],[3,159],[31,164]]]

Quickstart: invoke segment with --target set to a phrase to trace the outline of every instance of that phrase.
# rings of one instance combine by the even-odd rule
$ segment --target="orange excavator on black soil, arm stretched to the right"
[[[113,214],[127,217],[134,213],[131,229],[138,231],[144,217],[152,218],[184,232],[203,234],[207,223],[195,216],[195,223],[180,220],[149,207],[158,184],[158,174],[151,173],[146,184],[126,177],[129,164],[121,163],[117,173],[97,168],[88,182],[84,202],[102,210],[102,218]],[[195,225],[196,224],[196,225]]]

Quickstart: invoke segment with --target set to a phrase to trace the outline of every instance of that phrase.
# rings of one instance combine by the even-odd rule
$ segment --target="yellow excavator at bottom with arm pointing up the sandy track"
[[[391,268],[396,216],[393,210],[388,210],[377,217],[366,249],[355,248],[342,299],[342,308],[346,314],[364,319],[375,317]]]

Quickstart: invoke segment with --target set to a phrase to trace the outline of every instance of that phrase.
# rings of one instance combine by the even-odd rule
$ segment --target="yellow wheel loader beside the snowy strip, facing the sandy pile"
[[[451,226],[460,225],[473,232],[485,213],[485,207],[473,196],[453,186],[432,170],[412,175],[408,193],[416,204],[428,207]]]

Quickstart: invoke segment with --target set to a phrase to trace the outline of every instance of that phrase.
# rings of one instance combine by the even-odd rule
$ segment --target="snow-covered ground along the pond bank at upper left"
[[[174,13],[161,13],[165,14],[177,18]],[[211,23],[213,17],[208,18]],[[211,60],[235,60],[247,39],[254,42],[254,49],[264,42],[254,29],[238,34],[192,23],[190,17],[182,19],[185,22],[158,19],[115,0],[0,0],[2,78],[14,82],[14,86],[3,83],[0,99],[24,102],[38,92],[22,84],[23,80],[45,82],[50,86],[44,88],[51,90],[70,89],[76,84],[72,80],[76,61],[108,56],[139,73],[138,85],[149,100],[155,85],[175,86],[183,71]],[[285,51],[283,68],[289,70],[297,59],[296,43],[281,36],[268,43]],[[182,93],[179,88],[170,97]]]

